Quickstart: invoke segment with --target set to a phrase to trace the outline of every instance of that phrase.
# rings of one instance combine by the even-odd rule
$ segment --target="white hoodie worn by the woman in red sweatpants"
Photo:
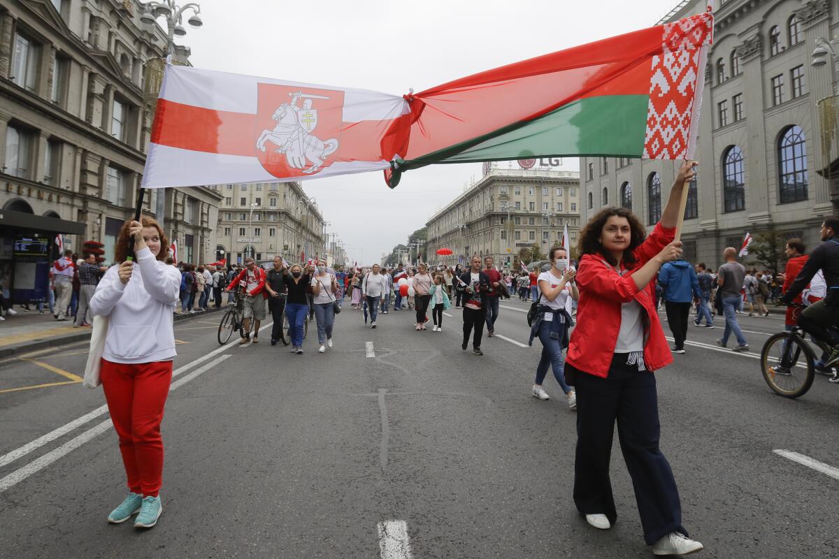
[[[112,266],[91,298],[91,313],[110,317],[102,357],[129,364],[170,360],[177,355],[172,312],[180,272],[157,260],[148,246],[136,257],[128,284],[119,280],[119,267]]]

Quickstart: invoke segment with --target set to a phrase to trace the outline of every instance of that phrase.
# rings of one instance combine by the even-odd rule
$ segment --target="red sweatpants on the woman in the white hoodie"
[[[163,483],[160,422],[172,382],[172,361],[124,365],[103,359],[100,377],[119,436],[128,489],[156,497]]]

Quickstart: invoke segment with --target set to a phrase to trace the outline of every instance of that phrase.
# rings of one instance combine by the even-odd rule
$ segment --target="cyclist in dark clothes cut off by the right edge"
[[[830,328],[839,323],[839,218],[828,217],[821,224],[820,246],[816,246],[810,254],[810,259],[795,277],[795,282],[780,298],[784,304],[793,303],[795,297],[807,287],[816,272],[821,270],[825,275],[827,294],[824,299],[811,304],[801,312],[798,319],[799,326],[814,339],[831,346],[830,355],[826,356],[824,366],[830,366],[839,361],[839,339],[830,333]]]

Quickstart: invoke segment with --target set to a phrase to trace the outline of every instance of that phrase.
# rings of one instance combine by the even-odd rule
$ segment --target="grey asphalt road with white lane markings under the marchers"
[[[221,348],[215,316],[176,327],[164,515],[147,532],[107,524],[125,492],[107,413],[5,463],[102,406],[101,391],[0,392],[0,556],[378,557],[382,541],[407,556],[400,528],[418,558],[651,556],[617,441],[618,523],[595,531],[576,513],[575,415],[530,396],[541,348],[526,347],[525,308],[503,303],[508,339],[485,339],[482,357],[461,351],[454,308],[434,333],[409,311],[364,329],[347,305],[325,355],[314,329],[292,355],[265,334]],[[754,353],[783,324],[742,323]],[[773,452],[839,466],[839,386],[820,376],[798,401],[774,396],[756,359],[712,347],[721,332],[691,327],[708,345],[656,374],[662,448],[701,556],[839,556],[839,479]],[[83,349],[32,359],[80,375]],[[0,365],[0,390],[56,380],[31,361]],[[552,376],[545,387],[560,395]]]

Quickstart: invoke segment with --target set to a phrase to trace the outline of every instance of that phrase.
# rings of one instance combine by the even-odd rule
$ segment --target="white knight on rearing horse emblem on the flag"
[[[273,143],[276,153],[284,153],[289,168],[301,169],[303,173],[317,173],[325,159],[338,149],[338,140],[321,140],[312,132],[318,124],[318,111],[312,108],[313,100],[329,99],[327,96],[296,91],[289,92],[291,101],[283,103],[274,111],[272,120],[277,122],[273,130],[267,128],[259,135],[257,148],[265,153],[267,143]],[[297,103],[303,99],[303,106]]]

